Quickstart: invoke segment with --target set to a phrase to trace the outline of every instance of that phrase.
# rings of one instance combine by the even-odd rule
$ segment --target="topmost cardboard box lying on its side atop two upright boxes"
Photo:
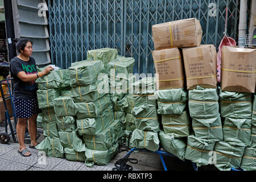
[[[155,50],[200,46],[202,34],[200,22],[196,18],[176,20],[152,26]]]

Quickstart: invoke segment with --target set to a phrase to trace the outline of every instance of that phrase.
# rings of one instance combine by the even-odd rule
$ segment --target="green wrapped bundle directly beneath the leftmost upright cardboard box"
[[[158,114],[183,114],[187,107],[188,92],[184,89],[157,90]]]

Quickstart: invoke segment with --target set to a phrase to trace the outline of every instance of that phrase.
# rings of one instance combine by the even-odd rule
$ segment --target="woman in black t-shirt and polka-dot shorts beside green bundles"
[[[15,115],[18,118],[16,133],[19,140],[18,153],[22,156],[30,156],[24,144],[25,130],[28,120],[28,132],[30,133],[30,148],[35,148],[36,142],[36,117],[39,113],[38,100],[36,98],[37,86],[35,80],[53,70],[47,67],[42,72],[36,71],[35,59],[32,55],[32,42],[28,39],[20,39],[16,43],[19,55],[11,59],[10,72],[13,77],[13,95]]]

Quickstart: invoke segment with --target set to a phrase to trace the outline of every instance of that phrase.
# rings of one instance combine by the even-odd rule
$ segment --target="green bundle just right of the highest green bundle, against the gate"
[[[106,72],[109,78],[114,81],[117,78],[129,79],[129,74],[133,73],[133,67],[135,64],[135,59],[133,57],[117,57],[108,63],[106,66]],[[115,82],[115,81],[114,81]]]

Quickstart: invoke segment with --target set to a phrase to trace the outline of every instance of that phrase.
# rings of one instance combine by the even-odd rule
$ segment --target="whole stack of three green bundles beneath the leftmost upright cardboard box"
[[[184,160],[187,136],[191,132],[190,118],[187,112],[188,92],[180,89],[157,90],[158,114],[162,115],[162,127],[159,133],[163,150]]]

